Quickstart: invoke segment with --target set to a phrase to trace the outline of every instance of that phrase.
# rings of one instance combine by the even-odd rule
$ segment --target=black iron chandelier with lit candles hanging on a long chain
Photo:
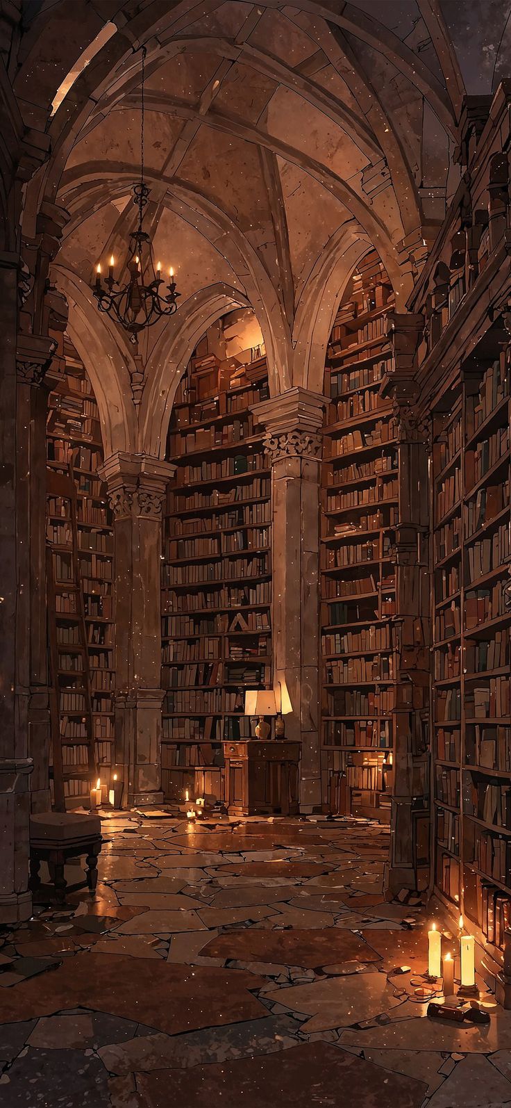
[[[153,245],[147,232],[143,228],[144,208],[149,197],[149,189],[144,181],[144,83],[146,48],[142,48],[142,98],[140,98],[140,181],[134,185],[133,203],[138,208],[138,226],[129,235],[129,248],[126,268],[128,279],[119,285],[114,276],[114,256],[108,266],[108,276],[102,283],[101,264],[96,267],[96,280],[92,286],[100,311],[106,312],[111,319],[121,324],[129,332],[131,341],[137,341],[137,335],[145,327],[152,327],[163,316],[173,316],[177,310],[177,298],[174,270],[169,269],[169,279],[165,286],[161,277],[161,265],[155,270]],[[161,288],[164,286],[164,288]],[[167,293],[165,294],[165,287]]]

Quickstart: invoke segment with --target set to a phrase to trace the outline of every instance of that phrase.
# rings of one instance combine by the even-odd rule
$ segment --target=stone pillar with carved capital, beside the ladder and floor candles
[[[176,466],[115,453],[100,476],[114,513],[115,759],[123,803],[163,802],[161,505]]]

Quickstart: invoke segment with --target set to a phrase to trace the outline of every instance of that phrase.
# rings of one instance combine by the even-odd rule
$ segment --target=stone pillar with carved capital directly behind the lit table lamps
[[[319,576],[324,397],[290,389],[252,408],[271,463],[273,680],[285,680],[285,733],[302,742],[300,807],[321,806]]]

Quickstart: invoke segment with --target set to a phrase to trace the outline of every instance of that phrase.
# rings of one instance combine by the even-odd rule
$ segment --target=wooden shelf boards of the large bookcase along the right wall
[[[445,729],[446,733],[449,731],[457,732],[456,746],[451,743],[450,747],[445,747],[444,749],[449,752],[456,750],[456,761],[446,762],[436,757],[436,747],[434,749],[432,759],[432,777],[435,778],[435,770],[438,767],[441,771],[442,767],[447,767],[451,772],[456,772],[460,781],[461,798],[463,796],[462,789],[463,784],[461,781],[461,776],[465,772],[469,774],[468,782],[471,782],[474,791],[477,790],[478,798],[474,799],[473,807],[476,810],[483,811],[483,803],[486,798],[486,792],[488,788],[499,789],[501,786],[503,789],[509,789],[511,783],[511,770],[499,770],[493,768],[493,766],[486,767],[480,765],[476,759],[480,756],[482,749],[482,757],[487,760],[490,758],[498,758],[499,747],[496,742],[493,746],[480,747],[479,741],[491,736],[492,740],[496,737],[497,728],[504,728],[505,731],[511,728],[511,719],[507,717],[490,717],[488,715],[473,716],[469,712],[473,712],[473,701],[470,698],[470,691],[478,685],[482,685],[486,688],[490,688],[490,681],[508,681],[510,677],[510,667],[505,666],[493,666],[491,669],[477,669],[479,665],[486,664],[486,658],[488,657],[487,646],[484,640],[491,640],[497,632],[504,630],[511,625],[511,613],[503,613],[499,616],[492,616],[481,623],[468,626],[467,624],[467,596],[472,594],[477,595],[479,591],[486,589],[491,594],[491,589],[494,583],[499,582],[508,573],[508,565],[493,565],[493,568],[487,571],[482,574],[474,574],[473,581],[470,581],[470,562],[469,552],[473,551],[474,544],[489,540],[490,544],[492,542],[492,534],[496,530],[505,525],[510,519],[510,507],[505,504],[500,511],[498,511],[491,519],[486,520],[480,524],[472,534],[468,534],[469,525],[469,502],[474,501],[474,497],[482,490],[488,489],[492,484],[504,483],[509,480],[510,475],[510,460],[511,452],[509,449],[502,452],[502,455],[493,462],[493,464],[487,470],[487,472],[471,486],[467,488],[467,473],[469,472],[469,466],[463,464],[463,460],[470,452],[473,452],[478,444],[488,439],[494,431],[500,427],[505,425],[508,418],[508,410],[510,398],[505,397],[500,400],[494,408],[488,413],[486,419],[480,423],[476,431],[471,430],[471,412],[473,407],[479,403],[487,403],[488,400],[493,396],[493,390],[497,387],[501,387],[504,375],[508,375],[508,368],[504,365],[503,356],[502,359],[494,356],[494,361],[491,363],[488,359],[488,352],[482,352],[481,361],[478,367],[478,348],[471,350],[470,352],[470,363],[468,373],[465,373],[465,367],[461,365],[458,370],[458,377],[455,378],[451,375],[449,381],[449,393],[446,393],[446,399],[439,400],[439,410],[434,413],[434,450],[432,450],[432,479],[434,489],[438,490],[441,480],[452,471],[453,465],[458,462],[460,464],[460,501],[453,506],[453,512],[459,513],[460,520],[460,546],[452,551],[449,555],[441,560],[435,561],[434,558],[434,596],[431,602],[431,613],[432,617],[441,614],[442,609],[447,609],[451,602],[455,602],[458,618],[459,618],[459,633],[456,636],[451,636],[444,640],[444,643],[436,643],[435,648],[441,647],[442,645],[455,644],[460,652],[460,666],[466,667],[467,663],[470,669],[463,670],[458,678],[455,679],[434,679],[434,697],[439,695],[444,690],[448,693],[449,686],[457,689],[459,697],[459,708],[460,708],[460,719],[459,720],[442,720],[435,724],[436,729]],[[452,394],[456,391],[458,397],[458,402],[455,406],[452,401]],[[435,434],[435,425],[440,429],[444,435],[444,442],[456,441],[461,443],[461,448],[455,451],[449,463],[440,469],[440,451],[439,451],[439,439]],[[435,493],[432,494],[435,496]],[[502,501],[503,503],[504,501]],[[484,501],[481,503],[482,510],[486,511]],[[473,509],[471,509],[472,511]],[[435,532],[446,522],[446,515],[441,521],[435,526]],[[436,536],[434,534],[431,540],[431,550],[435,552],[437,548]],[[448,574],[444,575],[444,582],[441,579],[441,574],[437,571],[442,567],[448,567],[449,563],[456,560],[458,563],[458,583],[459,588],[446,599],[441,599],[438,595],[441,587],[449,587]],[[488,563],[487,563],[488,564]],[[446,585],[447,578],[447,585]],[[496,602],[497,604],[497,602]],[[501,646],[499,644],[499,650]],[[469,653],[467,653],[469,650]],[[502,657],[502,654],[496,654],[497,658]],[[451,701],[453,705],[453,701]],[[449,707],[449,705],[448,705]],[[478,730],[476,730],[478,729]],[[490,736],[488,735],[490,731]],[[478,738],[480,735],[480,740]],[[500,741],[500,740],[499,740]],[[493,755],[494,751],[494,755]],[[469,760],[470,759],[470,760]],[[467,793],[467,799],[469,793]],[[492,798],[493,799],[493,798]],[[496,799],[497,803],[498,798]],[[438,810],[441,807],[446,808],[447,811],[455,811],[451,806],[442,804],[442,802],[435,801]],[[462,799],[461,799],[462,803]],[[467,803],[467,801],[466,801]],[[503,809],[502,809],[503,811]],[[459,888],[460,888],[460,901],[452,902],[446,897],[446,895],[438,891],[439,897],[444,897],[446,903],[456,903],[456,912],[463,915],[463,917],[472,917],[476,912],[474,904],[481,905],[482,899],[478,893],[478,882],[482,880],[483,883],[488,883],[490,886],[494,886],[496,891],[501,890],[511,900],[511,888],[509,888],[503,882],[498,881],[490,874],[484,873],[478,868],[478,865],[470,860],[470,854],[473,852],[474,838],[478,838],[479,830],[481,832],[487,832],[489,835],[499,837],[502,841],[511,840],[511,830],[500,827],[499,824],[490,823],[477,814],[472,814],[468,810],[456,810],[456,814],[459,820],[459,855],[456,856],[456,863],[459,865]],[[436,854],[437,859],[434,860],[435,873],[437,874],[437,880],[439,875],[444,874],[441,856],[447,853],[444,845],[444,841],[436,841]],[[467,856],[469,855],[469,856]],[[501,861],[501,855],[497,854],[499,862]],[[442,881],[458,880],[458,871],[450,871],[450,879],[442,876]],[[436,890],[437,891],[437,890]],[[478,912],[481,912],[479,906]],[[477,912],[476,912],[477,914]],[[482,936],[481,932],[482,921],[479,920],[476,924],[476,930],[479,935]],[[479,940],[478,940],[479,941]],[[487,942],[481,937],[484,943],[484,948],[487,947]],[[492,951],[497,951],[497,947],[492,946]],[[494,954],[492,953],[492,956]],[[502,960],[502,952],[498,952],[498,957]]]

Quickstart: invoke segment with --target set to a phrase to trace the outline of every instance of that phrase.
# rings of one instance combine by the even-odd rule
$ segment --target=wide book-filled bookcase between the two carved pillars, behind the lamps
[[[270,470],[251,407],[263,357],[197,353],[178,388],[161,576],[163,789],[222,799],[222,739],[251,735],[247,688],[271,687]]]

